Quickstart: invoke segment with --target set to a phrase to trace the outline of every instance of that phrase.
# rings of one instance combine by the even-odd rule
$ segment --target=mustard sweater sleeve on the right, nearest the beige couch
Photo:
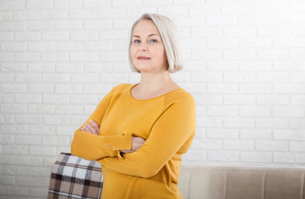
[[[101,158],[97,162],[122,174],[150,178],[188,142],[187,149],[181,154],[186,153],[195,135],[195,101],[191,95],[186,95],[164,108],[139,150],[123,156]]]

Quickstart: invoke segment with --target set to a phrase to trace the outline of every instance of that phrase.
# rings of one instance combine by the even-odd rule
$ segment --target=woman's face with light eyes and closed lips
[[[167,57],[160,33],[152,20],[141,20],[134,28],[130,54],[134,66],[142,72],[160,72],[167,68]],[[140,59],[139,56],[150,59]]]

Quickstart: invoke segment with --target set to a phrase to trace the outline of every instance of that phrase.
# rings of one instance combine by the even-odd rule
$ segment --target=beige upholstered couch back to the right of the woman
[[[305,199],[305,168],[181,165],[184,199]]]

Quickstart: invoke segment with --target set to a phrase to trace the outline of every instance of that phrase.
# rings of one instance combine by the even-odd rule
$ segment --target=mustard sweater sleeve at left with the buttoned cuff
[[[100,101],[95,111],[85,123],[94,120],[101,126],[102,119],[107,110],[108,99],[111,91]],[[119,150],[129,150],[132,146],[132,134],[123,132],[121,135],[101,136],[81,131],[85,123],[75,131],[71,143],[71,154],[85,160],[97,160],[103,157],[120,156]]]

